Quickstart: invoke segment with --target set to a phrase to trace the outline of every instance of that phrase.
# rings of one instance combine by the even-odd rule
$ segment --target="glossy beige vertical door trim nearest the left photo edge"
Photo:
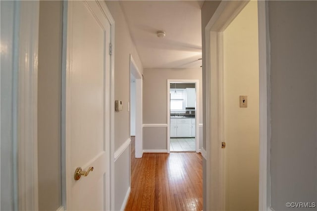
[[[16,210],[37,211],[39,1],[14,2],[13,16],[13,206]]]

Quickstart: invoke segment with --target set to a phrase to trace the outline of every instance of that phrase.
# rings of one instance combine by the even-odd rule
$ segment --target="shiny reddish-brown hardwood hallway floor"
[[[131,193],[125,211],[203,210],[203,167],[198,153],[145,153],[135,158],[131,137]]]

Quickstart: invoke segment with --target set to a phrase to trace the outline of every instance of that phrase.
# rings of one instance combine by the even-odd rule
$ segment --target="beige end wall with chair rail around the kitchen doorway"
[[[143,124],[167,124],[167,79],[199,80],[199,123],[203,123],[201,68],[146,68],[143,79]],[[167,150],[167,128],[144,127],[143,147],[144,150]]]

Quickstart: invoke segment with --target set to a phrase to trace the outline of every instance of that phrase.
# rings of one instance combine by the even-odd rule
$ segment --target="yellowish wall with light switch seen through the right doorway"
[[[225,210],[258,210],[258,4],[250,1],[223,32]],[[248,95],[240,108],[239,95]]]

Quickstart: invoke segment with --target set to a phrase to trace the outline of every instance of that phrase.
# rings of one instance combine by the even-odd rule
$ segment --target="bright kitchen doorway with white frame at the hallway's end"
[[[168,153],[199,152],[198,83],[198,80],[168,80]]]

